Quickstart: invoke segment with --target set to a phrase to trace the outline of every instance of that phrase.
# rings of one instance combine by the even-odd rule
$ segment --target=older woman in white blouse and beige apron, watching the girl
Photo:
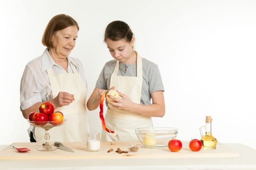
[[[66,122],[51,129],[51,139],[82,141],[89,132],[86,114],[87,82],[79,59],[70,57],[78,38],[79,25],[72,17],[60,14],[53,17],[42,36],[46,46],[42,55],[30,61],[20,83],[20,109],[28,119],[39,112],[43,102],[53,104],[63,113]],[[31,126],[30,141],[44,141],[44,130]]]

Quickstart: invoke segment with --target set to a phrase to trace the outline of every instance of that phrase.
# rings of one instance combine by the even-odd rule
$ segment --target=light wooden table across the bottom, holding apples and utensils
[[[243,144],[217,144],[216,150],[192,152],[188,141],[182,141],[182,150],[173,153],[166,148],[138,152],[116,153],[117,148],[128,151],[131,142],[101,142],[99,152],[88,152],[82,142],[63,143],[74,153],[38,151],[41,143],[14,143],[31,149],[18,153],[9,146],[0,145],[0,170],[256,170],[256,150]],[[138,143],[138,142],[134,142]],[[52,143],[51,143],[52,145]],[[107,153],[109,149],[114,151]]]

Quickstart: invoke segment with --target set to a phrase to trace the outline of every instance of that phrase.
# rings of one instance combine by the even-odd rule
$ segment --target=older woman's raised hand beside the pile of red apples
[[[54,108],[66,106],[75,100],[74,95],[67,92],[59,92],[58,96],[53,99]]]

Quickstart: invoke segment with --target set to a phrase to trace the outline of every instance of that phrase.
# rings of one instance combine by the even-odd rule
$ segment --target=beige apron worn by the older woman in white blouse
[[[88,118],[86,113],[86,95],[87,89],[85,83],[82,81],[78,71],[74,66],[71,68],[73,73],[62,73],[57,76],[53,75],[52,68],[47,69],[50,80],[53,98],[55,98],[60,91],[74,94],[75,100],[67,106],[62,106],[56,111],[60,111],[64,115],[66,122],[61,126],[53,127],[49,130],[50,141],[59,142],[73,142],[83,141],[83,136],[89,132]],[[35,129],[36,141],[43,142],[45,131],[42,128]]]

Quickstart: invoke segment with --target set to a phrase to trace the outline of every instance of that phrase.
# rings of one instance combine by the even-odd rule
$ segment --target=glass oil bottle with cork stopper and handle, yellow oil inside
[[[217,139],[212,136],[212,118],[206,116],[205,126],[200,127],[202,149],[216,149]],[[205,129],[205,135],[203,135],[203,129]]]

